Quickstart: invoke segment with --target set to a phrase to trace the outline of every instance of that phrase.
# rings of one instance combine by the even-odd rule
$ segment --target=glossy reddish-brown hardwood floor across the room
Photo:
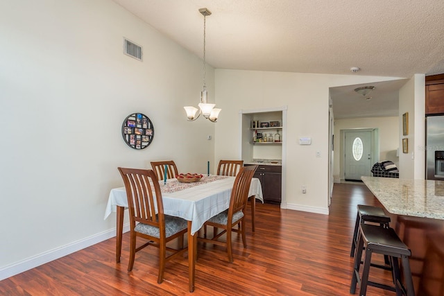
[[[234,234],[234,263],[228,263],[223,247],[198,243],[192,294],[187,254],[167,263],[162,284],[157,284],[155,247],[138,252],[128,272],[127,233],[121,263],[115,262],[112,238],[0,281],[0,295],[350,295],[357,204],[380,205],[364,184],[334,184],[329,216],[257,203],[255,233],[246,211],[246,249]],[[391,278],[384,270],[370,275]],[[369,287],[368,295],[395,293]]]

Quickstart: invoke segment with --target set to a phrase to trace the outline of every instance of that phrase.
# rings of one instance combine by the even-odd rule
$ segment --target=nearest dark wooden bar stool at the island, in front
[[[359,276],[359,268],[361,266],[362,249],[365,247],[364,270],[362,277]],[[388,256],[391,261],[392,275],[394,286],[380,284],[374,281],[368,281],[370,272],[370,261],[372,254],[383,254]],[[365,296],[367,286],[374,286],[384,290],[396,292],[396,295],[414,296],[413,281],[411,279],[409,256],[411,252],[409,247],[405,245],[393,228],[384,228],[377,225],[361,224],[359,226],[359,235],[357,243],[357,251],[355,254],[355,264],[353,266],[352,282],[350,284],[350,294],[355,294],[357,283],[360,284],[360,296]],[[404,274],[404,282],[407,290],[402,284],[400,267],[398,258],[402,261],[402,271]]]

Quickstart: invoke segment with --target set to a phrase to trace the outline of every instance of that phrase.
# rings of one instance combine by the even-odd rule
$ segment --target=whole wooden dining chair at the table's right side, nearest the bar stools
[[[217,214],[205,222],[205,226],[213,226],[214,233],[213,238],[199,237],[198,241],[205,243],[214,243],[215,245],[223,245],[227,247],[228,261],[233,261],[232,247],[231,247],[231,234],[232,232],[240,232],[242,235],[242,243],[244,247],[247,247],[246,234],[245,234],[245,222],[244,211],[247,204],[248,191],[250,190],[250,183],[257,166],[244,166],[240,169],[239,173],[234,180],[233,188],[230,197],[230,207]],[[234,228],[234,226],[240,225],[240,227]],[[223,231],[217,233],[217,230],[221,228]],[[223,234],[226,234],[226,241],[218,241]]]

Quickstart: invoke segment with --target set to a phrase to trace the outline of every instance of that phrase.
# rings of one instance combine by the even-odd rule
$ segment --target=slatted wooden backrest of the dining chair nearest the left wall
[[[152,170],[118,168],[125,184],[131,227],[136,222],[162,229],[164,206],[157,177]]]

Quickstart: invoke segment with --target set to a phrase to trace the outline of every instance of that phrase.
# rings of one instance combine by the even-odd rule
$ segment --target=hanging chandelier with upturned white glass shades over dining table
[[[217,117],[219,116],[219,112],[221,109],[215,108],[216,104],[207,103],[207,86],[205,85],[205,37],[206,37],[206,17],[207,15],[211,15],[210,10],[207,8],[200,8],[199,12],[203,15],[203,89],[200,92],[200,103],[199,108],[193,106],[185,106],[185,112],[187,112],[188,121],[195,121],[199,118],[200,114],[212,121],[216,122]]]

